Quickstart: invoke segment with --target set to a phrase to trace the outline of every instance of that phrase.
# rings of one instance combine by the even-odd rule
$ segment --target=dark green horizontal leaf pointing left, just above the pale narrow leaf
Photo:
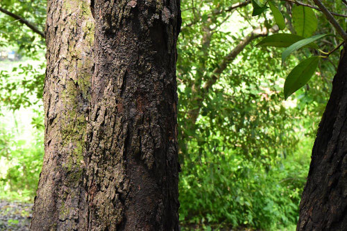
[[[291,46],[291,44],[294,44],[297,41],[300,41],[302,39],[305,39],[305,38],[299,35],[285,34],[285,33],[274,34],[274,35],[269,35],[268,37],[262,39],[262,41],[260,41],[256,46],[288,47],[288,46]],[[307,44],[305,47],[319,48],[314,43]]]

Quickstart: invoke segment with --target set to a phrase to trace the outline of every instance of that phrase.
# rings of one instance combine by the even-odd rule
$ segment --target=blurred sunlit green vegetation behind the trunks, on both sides
[[[336,53],[319,64],[309,84],[287,101],[285,76],[310,56],[306,48],[281,66],[282,49],[251,41],[227,63],[208,91],[201,90],[223,59],[254,28],[273,26],[266,11],[251,17],[239,1],[181,3],[178,41],[180,221],[193,228],[294,230],[310,165],[316,129],[336,72]],[[329,1],[330,2],[330,1]],[[284,2],[276,1],[293,30]],[[44,30],[41,1],[1,1]],[[341,3],[327,3],[339,12]],[[221,13],[215,14],[216,10]],[[335,33],[317,14],[319,33]],[[341,21],[346,28],[346,21]],[[208,43],[204,43],[210,31]],[[321,44],[319,44],[321,42]],[[332,50],[337,41],[318,44]],[[0,198],[33,201],[44,154],[44,41],[18,21],[0,14],[0,50],[15,50],[17,61],[0,62]],[[192,111],[198,108],[196,122]]]

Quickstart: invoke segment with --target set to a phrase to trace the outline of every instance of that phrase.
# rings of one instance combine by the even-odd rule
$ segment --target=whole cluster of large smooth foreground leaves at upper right
[[[257,0],[252,0],[255,4],[253,4],[253,16],[255,10],[260,10],[260,8],[266,8],[266,4],[269,4],[274,19],[276,20],[276,23],[280,27],[281,30],[285,28],[285,21],[282,20],[282,13],[278,8],[274,5],[272,1],[266,1],[262,6],[259,6],[256,2]],[[260,11],[259,11],[260,12]],[[261,11],[260,15],[263,11]],[[313,35],[318,26],[318,19],[316,18],[316,15],[312,8],[309,6],[297,6],[294,5],[291,11],[291,26],[296,31],[296,36],[303,37],[299,41],[296,41],[294,44],[291,44],[285,51],[282,53],[282,64],[285,62],[285,59],[291,53],[294,53],[294,51],[307,47],[308,44],[312,44],[314,41],[321,39],[328,34],[323,35]],[[313,36],[312,36],[313,35]],[[334,34],[335,35],[335,34]],[[336,36],[336,35],[335,35]],[[283,41],[288,41],[289,39],[293,38],[293,34],[281,34],[280,36],[271,37],[271,42],[269,42],[268,38],[264,39],[265,41],[260,41],[260,45],[262,46],[276,46],[278,47],[279,44],[281,46],[284,46],[285,43]],[[346,42],[346,41],[344,41]],[[336,44],[335,46],[337,48],[334,48],[331,52],[325,53],[323,50],[319,50],[318,46],[314,47],[311,46],[311,48],[316,48],[320,53],[323,53],[322,56],[319,57],[310,57],[309,59],[303,60],[296,68],[289,73],[287,80],[285,82],[285,100],[291,95],[292,93],[296,92],[298,89],[300,89],[302,86],[305,86],[307,82],[311,79],[312,75],[314,75],[314,72],[316,71],[316,68],[318,66],[318,62],[321,60],[320,57],[328,58],[331,53],[333,53],[335,50],[337,50],[344,42],[340,42],[340,44]],[[289,44],[288,44],[289,45]],[[311,63],[311,62],[314,62]],[[300,81],[296,81],[300,80]]]

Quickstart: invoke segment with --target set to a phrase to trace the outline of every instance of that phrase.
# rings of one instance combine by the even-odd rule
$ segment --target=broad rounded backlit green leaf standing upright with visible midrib
[[[317,29],[318,21],[311,8],[294,5],[291,15],[294,29],[298,35],[303,37],[313,35]]]

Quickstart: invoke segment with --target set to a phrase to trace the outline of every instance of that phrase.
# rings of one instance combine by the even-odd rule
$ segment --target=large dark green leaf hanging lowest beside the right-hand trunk
[[[321,59],[319,56],[309,57],[291,70],[285,80],[285,100],[310,80],[316,71],[319,59]]]

